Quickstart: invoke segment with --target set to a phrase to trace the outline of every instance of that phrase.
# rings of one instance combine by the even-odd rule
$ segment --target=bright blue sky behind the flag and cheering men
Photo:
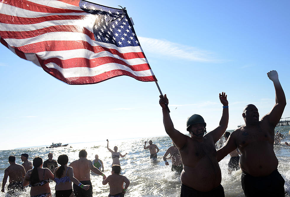
[[[277,70],[290,117],[290,1],[92,1],[126,7],[175,128],[200,114],[218,126],[225,91],[228,129],[255,104],[275,103],[267,72]],[[154,82],[128,76],[67,85],[0,46],[0,149],[166,135]]]

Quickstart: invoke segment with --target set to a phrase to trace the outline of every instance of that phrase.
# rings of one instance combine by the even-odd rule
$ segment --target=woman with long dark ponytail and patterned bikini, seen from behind
[[[31,197],[51,197],[49,179],[54,179],[52,172],[48,168],[42,168],[42,158],[37,156],[33,159],[34,168],[28,170],[23,186],[29,186]]]

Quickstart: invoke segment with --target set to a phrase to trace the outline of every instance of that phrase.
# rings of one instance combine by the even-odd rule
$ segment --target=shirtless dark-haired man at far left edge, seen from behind
[[[20,196],[19,192],[24,191],[24,187],[22,185],[23,177],[25,177],[25,169],[22,165],[15,163],[15,156],[10,155],[8,158],[10,166],[4,171],[4,178],[2,182],[2,190],[4,191],[5,184],[7,182],[7,178],[9,176],[9,185],[7,193],[10,196]]]

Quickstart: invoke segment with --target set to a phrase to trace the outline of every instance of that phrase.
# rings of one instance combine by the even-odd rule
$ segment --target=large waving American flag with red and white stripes
[[[0,0],[0,41],[72,85],[157,81],[125,9],[78,0]]]

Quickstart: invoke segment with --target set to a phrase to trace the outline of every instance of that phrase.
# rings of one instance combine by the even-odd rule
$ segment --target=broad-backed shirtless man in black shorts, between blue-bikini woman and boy
[[[90,185],[88,190],[83,190],[78,185],[73,184],[73,193],[75,197],[92,197],[93,187],[91,183],[90,171],[93,171],[97,175],[102,175],[103,179],[106,176],[98,168],[94,167],[93,162],[87,159],[86,150],[80,150],[78,156],[80,159],[70,163],[70,167],[73,168],[74,177],[80,181],[83,185]]]

